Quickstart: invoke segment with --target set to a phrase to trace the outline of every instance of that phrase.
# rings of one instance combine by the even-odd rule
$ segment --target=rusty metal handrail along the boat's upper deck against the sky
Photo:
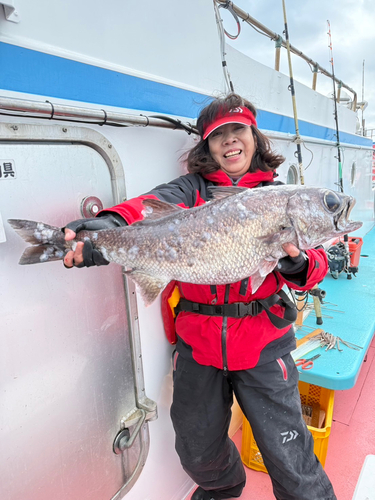
[[[274,40],[277,43],[276,50],[277,50],[278,46],[279,47],[282,46],[284,48],[287,47],[286,40],[284,40],[284,38],[281,35],[275,33],[274,31],[272,31],[270,29],[268,29],[267,26],[264,26],[264,24],[260,23],[254,17],[250,16],[250,14],[248,14],[244,10],[240,9],[233,2],[228,2],[228,0],[215,0],[215,1],[217,3],[219,3],[219,4],[222,4],[222,5],[230,5],[231,9],[244,22],[246,22],[247,24],[250,24],[251,26],[255,26],[257,29],[263,31],[263,33],[265,33],[266,35],[268,35],[271,38],[271,40]],[[316,73],[319,71],[323,75],[328,76],[328,78],[331,78],[332,80],[334,79],[334,81],[339,86],[339,90],[341,88],[345,88],[346,90],[348,90],[349,92],[351,92],[353,94],[353,102],[352,102],[352,105],[351,105],[351,109],[353,111],[356,111],[356,109],[357,109],[357,93],[351,87],[349,87],[348,85],[346,85],[345,83],[343,83],[338,78],[336,78],[336,77],[334,78],[333,75],[332,75],[332,73],[330,73],[329,71],[327,71],[326,69],[324,69],[322,66],[320,66],[320,64],[318,64],[316,61],[313,61],[313,59],[311,59],[310,57],[306,56],[302,51],[298,50],[296,47],[294,47],[291,44],[290,44],[290,51],[293,54],[297,55],[298,57],[301,57],[304,61],[306,61],[308,64],[310,64],[313,67],[313,72],[314,72],[314,80],[313,80],[313,82],[314,81],[316,82]],[[276,68],[276,69],[278,69],[278,68]],[[315,90],[314,83],[313,83],[313,88]],[[337,100],[338,100],[338,102],[340,101],[339,93],[338,93],[338,96],[337,96]]]

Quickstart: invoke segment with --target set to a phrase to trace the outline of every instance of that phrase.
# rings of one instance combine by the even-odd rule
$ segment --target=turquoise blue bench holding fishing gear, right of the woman
[[[357,277],[348,280],[347,275],[342,273],[334,279],[328,274],[319,288],[327,293],[322,305],[323,324],[317,325],[315,314],[311,313],[304,325],[310,327],[310,332],[313,328],[322,328],[362,349],[355,351],[345,345],[340,347],[342,352],[315,349],[306,357],[321,356],[314,361],[311,370],[300,370],[300,380],[327,389],[351,389],[357,381],[375,330],[375,228],[363,237]],[[296,337],[301,339],[307,333],[302,327],[296,331]]]

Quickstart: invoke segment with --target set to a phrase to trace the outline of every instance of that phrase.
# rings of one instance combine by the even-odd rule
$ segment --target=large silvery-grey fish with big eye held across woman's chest
[[[251,276],[255,292],[286,256],[284,243],[307,250],[362,225],[348,219],[355,200],[325,188],[217,187],[212,192],[212,201],[189,210],[144,200],[143,221],[116,229],[80,231],[73,242],[66,242],[58,227],[9,220],[33,245],[26,248],[19,263],[63,259],[76,241],[89,238],[108,261],[126,268],[148,305],[171,280],[221,285]]]

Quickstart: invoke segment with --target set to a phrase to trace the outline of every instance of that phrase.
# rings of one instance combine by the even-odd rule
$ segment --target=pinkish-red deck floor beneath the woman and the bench
[[[374,394],[375,340],[369,347],[355,387],[335,391],[325,470],[338,500],[352,500],[365,458],[375,454]],[[233,439],[240,449],[241,430]],[[274,500],[268,474],[247,467],[245,469],[247,484],[241,500]]]

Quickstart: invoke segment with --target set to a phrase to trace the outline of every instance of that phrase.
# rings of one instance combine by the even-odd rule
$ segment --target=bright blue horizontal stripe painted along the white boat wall
[[[78,102],[116,106],[194,119],[210,98],[190,90],[126,75],[0,42],[0,88]],[[293,118],[259,111],[261,129],[295,135]],[[336,142],[335,131],[299,121],[302,136]],[[340,133],[340,142],[372,147],[355,134]]]

